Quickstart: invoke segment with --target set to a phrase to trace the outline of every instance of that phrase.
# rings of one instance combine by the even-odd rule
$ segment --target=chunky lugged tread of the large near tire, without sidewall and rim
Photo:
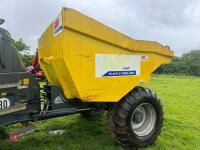
[[[116,138],[116,141],[124,147],[147,147],[153,144],[157,139],[157,136],[161,133],[161,128],[163,126],[163,111],[161,112],[161,124],[159,130],[156,131],[152,140],[146,143],[137,143],[131,138],[126,120],[131,110],[131,106],[139,103],[143,98],[153,98],[156,101],[155,103],[157,103],[161,107],[161,110],[163,110],[163,106],[160,104],[160,98],[154,92],[150,89],[138,86],[128,93],[119,103],[116,104],[113,110],[109,111],[107,114],[109,130]]]

